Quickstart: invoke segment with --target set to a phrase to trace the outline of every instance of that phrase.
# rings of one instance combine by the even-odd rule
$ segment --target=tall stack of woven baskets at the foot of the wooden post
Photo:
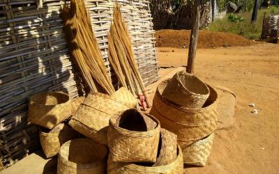
[[[150,113],[177,135],[185,164],[206,164],[218,119],[216,90],[178,72],[158,85]]]

